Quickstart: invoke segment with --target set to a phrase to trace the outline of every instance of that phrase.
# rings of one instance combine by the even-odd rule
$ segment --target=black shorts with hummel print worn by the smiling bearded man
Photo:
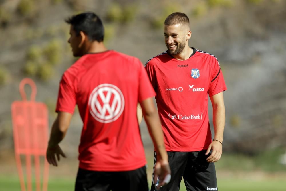
[[[187,191],[193,190],[218,190],[215,164],[207,162],[206,150],[197,152],[167,152],[171,168],[171,181],[160,191],[179,191],[182,177]],[[154,152],[154,166],[156,164],[156,152]],[[152,179],[154,179],[154,169]],[[156,182],[155,182],[156,184]],[[157,191],[152,180],[151,191]]]

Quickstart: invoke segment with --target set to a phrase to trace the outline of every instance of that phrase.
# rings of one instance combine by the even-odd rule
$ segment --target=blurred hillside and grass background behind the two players
[[[36,101],[47,105],[51,127],[59,80],[76,60],[64,19],[82,11],[102,18],[109,49],[143,64],[166,50],[166,16],[186,13],[189,45],[218,58],[228,87],[223,155],[216,163],[219,188],[286,189],[286,1],[0,0],[0,190],[19,190],[10,109],[21,100],[19,83],[25,77],[35,81]],[[212,123],[211,107],[209,113]],[[73,189],[81,128],[76,109],[61,143],[68,158],[50,167],[56,188],[50,184],[49,190]],[[144,122],[140,128],[150,181],[153,146]]]

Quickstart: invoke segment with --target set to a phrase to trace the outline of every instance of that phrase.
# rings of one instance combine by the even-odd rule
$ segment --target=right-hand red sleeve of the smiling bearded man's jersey
[[[225,80],[223,79],[223,73],[221,72],[221,67],[215,57],[212,59],[211,67],[212,81],[210,82],[210,88],[208,89],[209,96],[213,96],[227,90]]]

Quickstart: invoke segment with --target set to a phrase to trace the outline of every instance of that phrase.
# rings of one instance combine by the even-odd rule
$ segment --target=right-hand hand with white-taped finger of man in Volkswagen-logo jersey
[[[169,166],[168,160],[158,160],[156,161],[156,165],[154,168],[154,183],[157,182],[157,178],[159,178],[159,185],[157,186],[158,189],[160,187],[168,184],[171,180],[171,169]]]

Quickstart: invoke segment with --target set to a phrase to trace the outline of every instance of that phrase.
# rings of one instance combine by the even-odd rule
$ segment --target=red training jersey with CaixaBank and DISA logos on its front
[[[148,60],[167,151],[201,151],[211,139],[208,96],[227,90],[217,58],[194,50],[187,60],[163,52]]]

